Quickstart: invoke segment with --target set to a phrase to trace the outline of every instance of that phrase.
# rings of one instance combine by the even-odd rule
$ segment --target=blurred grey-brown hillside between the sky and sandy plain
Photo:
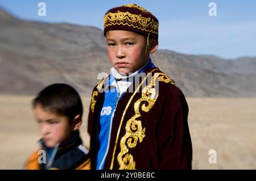
[[[90,95],[98,73],[110,71],[98,28],[29,22],[1,9],[0,24],[0,93],[35,95],[65,82]],[[256,57],[224,60],[158,50],[151,58],[186,96],[256,96]]]

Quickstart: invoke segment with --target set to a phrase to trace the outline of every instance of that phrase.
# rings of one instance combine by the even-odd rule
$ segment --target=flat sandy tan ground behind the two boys
[[[38,148],[39,133],[31,110],[32,96],[0,95],[0,169],[22,169]],[[89,146],[84,103],[80,131]],[[193,169],[256,169],[256,98],[187,98],[193,144]],[[217,163],[209,163],[209,150]]]

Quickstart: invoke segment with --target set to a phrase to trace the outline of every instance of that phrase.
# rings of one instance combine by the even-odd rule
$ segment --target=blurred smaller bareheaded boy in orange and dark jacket
[[[88,150],[82,145],[82,102],[73,87],[56,83],[33,100],[39,124],[40,149],[28,159],[25,169],[89,169]]]

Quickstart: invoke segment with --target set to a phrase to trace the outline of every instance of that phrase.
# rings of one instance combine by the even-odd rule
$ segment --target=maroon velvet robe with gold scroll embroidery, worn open
[[[104,169],[191,169],[192,144],[185,97],[158,68],[147,69],[145,73],[147,76],[136,79],[134,91],[130,91],[131,85],[117,103]],[[90,103],[92,169],[96,168],[107,79],[94,87]]]

